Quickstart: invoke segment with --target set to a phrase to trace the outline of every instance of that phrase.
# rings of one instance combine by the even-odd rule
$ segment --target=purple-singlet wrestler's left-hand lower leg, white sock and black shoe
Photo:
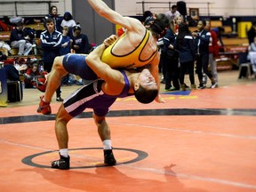
[[[55,121],[55,134],[60,148],[60,160],[52,161],[52,168],[56,169],[69,169],[69,156],[68,156],[68,129],[67,124],[72,119],[63,103],[60,105],[59,111],[56,115]]]

